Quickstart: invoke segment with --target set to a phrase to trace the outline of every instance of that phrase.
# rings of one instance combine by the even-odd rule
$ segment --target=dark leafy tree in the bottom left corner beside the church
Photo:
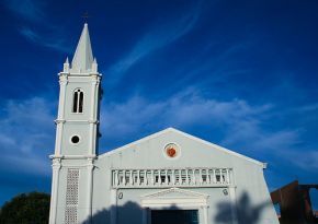
[[[0,224],[42,224],[48,223],[48,193],[30,192],[15,196],[0,210]]]

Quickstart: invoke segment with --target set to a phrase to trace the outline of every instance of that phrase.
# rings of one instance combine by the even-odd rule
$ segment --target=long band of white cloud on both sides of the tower
[[[20,169],[36,174],[50,174],[47,156],[54,151],[56,102],[34,97],[9,101],[0,115],[1,168]],[[156,132],[167,127],[183,130],[205,129],[220,132],[222,145],[239,145],[247,153],[254,152],[282,156],[299,143],[298,130],[268,131],[262,117],[271,114],[272,105],[252,106],[243,99],[216,101],[205,98],[191,87],[169,98],[151,102],[134,96],[123,103],[105,103],[101,109],[103,141],[124,142],[140,132]],[[268,119],[268,118],[266,118]],[[297,153],[297,151],[294,150]],[[309,152],[296,166],[315,167],[317,153]],[[33,168],[29,168],[33,167]]]

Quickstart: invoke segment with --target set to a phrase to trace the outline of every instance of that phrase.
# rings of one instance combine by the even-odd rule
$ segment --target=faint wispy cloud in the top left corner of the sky
[[[4,5],[18,17],[23,17],[31,22],[42,22],[45,1],[41,0],[4,0]]]

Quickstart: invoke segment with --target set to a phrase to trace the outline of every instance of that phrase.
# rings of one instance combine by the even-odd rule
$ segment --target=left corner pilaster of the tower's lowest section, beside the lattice
[[[59,182],[59,170],[60,170],[60,158],[53,158],[52,169],[52,197],[49,207],[49,224],[56,223],[56,210],[58,199],[58,182]]]

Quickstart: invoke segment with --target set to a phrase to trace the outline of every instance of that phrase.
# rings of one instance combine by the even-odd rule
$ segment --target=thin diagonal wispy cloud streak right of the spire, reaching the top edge
[[[188,34],[194,27],[200,13],[201,3],[198,2],[184,15],[168,16],[164,22],[154,24],[152,30],[144,34],[132,50],[110,68],[106,73],[111,76],[107,81],[116,83],[130,67],[144,57]]]

